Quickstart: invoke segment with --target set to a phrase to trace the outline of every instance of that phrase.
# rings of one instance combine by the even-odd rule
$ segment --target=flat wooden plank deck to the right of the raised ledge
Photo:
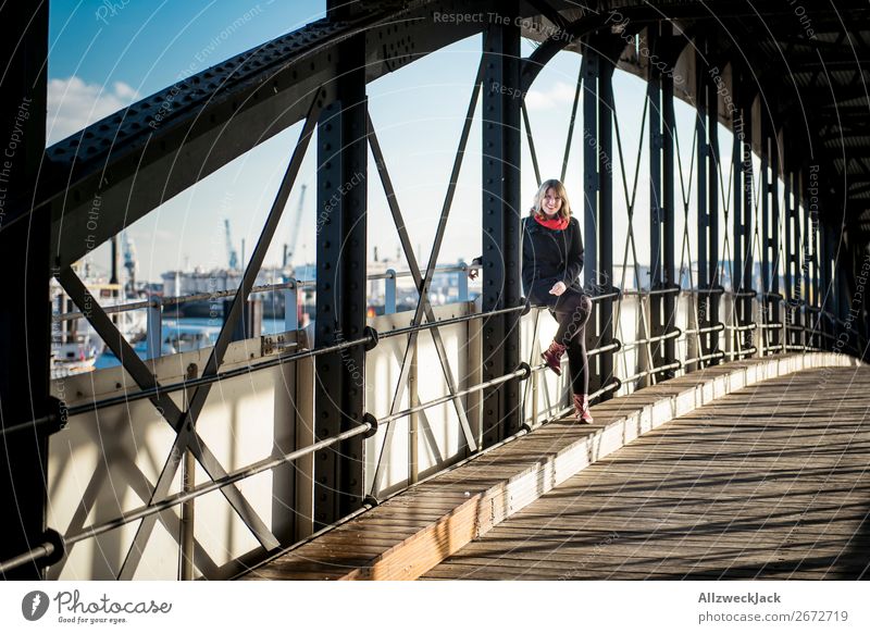
[[[808,370],[645,434],[423,579],[870,579],[869,512],[870,368]]]

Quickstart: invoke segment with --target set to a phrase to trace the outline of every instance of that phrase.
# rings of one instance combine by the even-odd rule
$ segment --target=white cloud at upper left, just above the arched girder
[[[112,86],[87,84],[82,78],[50,79],[48,83],[48,145],[65,139],[83,127],[101,120],[139,98],[124,82]]]

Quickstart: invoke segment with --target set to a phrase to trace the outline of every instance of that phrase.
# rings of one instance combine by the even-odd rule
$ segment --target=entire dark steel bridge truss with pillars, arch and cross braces
[[[582,214],[585,281],[595,295],[588,328],[595,396],[606,399],[627,386],[654,384],[725,358],[808,348],[865,356],[870,9],[866,2],[835,4],[797,12],[791,3],[775,1],[623,0],[580,7],[556,0],[331,0],[324,20],[181,80],[49,148],[44,119],[47,3],[4,8],[2,46],[4,59],[11,61],[1,119],[8,129],[20,127],[24,141],[7,164],[14,178],[9,179],[0,216],[2,270],[16,273],[9,276],[8,300],[0,304],[0,341],[8,361],[0,369],[2,504],[18,518],[0,545],[3,573],[10,579],[39,577],[74,544],[135,521],[140,523],[115,571],[121,579],[132,579],[158,522],[173,532],[175,522],[182,522],[170,509],[216,489],[256,538],[256,561],[303,535],[276,535],[237,483],[302,457],[313,456],[310,531],[376,504],[386,462],[375,460],[366,468],[365,438],[380,426],[384,439],[376,453],[383,453],[396,433],[390,423],[432,405],[408,394],[414,391],[420,337],[432,338],[439,377],[447,386],[439,403],[452,408],[465,455],[527,425],[530,383],[523,382],[540,368],[533,361],[534,350],[531,363],[521,355],[523,136],[537,182],[542,174],[525,104],[514,96],[526,95],[560,51],[582,55],[562,178],[576,146],[572,138],[582,134],[583,139],[594,139],[582,144]],[[18,35],[12,35],[21,33],[25,35],[18,43]],[[431,254],[421,265],[390,179],[395,159],[382,150],[369,112],[366,85],[472,36],[482,39],[480,65],[469,86]],[[538,43],[526,58],[521,55],[523,37]],[[647,148],[643,165],[642,147],[634,151],[620,135],[612,88],[617,69],[647,80],[639,108],[641,144]],[[675,82],[678,76],[685,80]],[[686,166],[681,162],[675,99],[696,110]],[[29,112],[26,119],[23,108]],[[478,313],[450,321],[436,318],[428,289],[475,113],[483,148],[482,306]],[[136,356],[72,265],[95,243],[111,239],[164,200],[299,122],[300,135],[215,346],[183,382],[162,384],[156,366]],[[730,128],[734,139],[728,164],[721,160],[720,125]],[[316,154],[318,210],[328,210],[318,240],[313,346],[245,370],[227,370],[224,361],[235,325],[243,319],[306,152]],[[336,197],[343,184],[359,174],[365,183],[374,182],[369,178],[369,152],[420,295],[409,326],[380,334],[366,322],[365,310],[368,186]],[[617,163],[619,171],[613,169]],[[647,179],[651,202],[641,209],[635,204],[637,186]],[[696,227],[689,219],[693,197]],[[97,199],[103,211],[99,223],[90,223]],[[629,231],[620,253],[613,248],[613,219],[623,209]],[[634,237],[632,223],[641,214],[649,222],[649,245],[638,246]],[[695,232],[694,253],[689,232]],[[650,257],[648,282],[637,269],[637,251],[644,248]],[[624,275],[614,278],[620,256],[621,270],[635,276],[633,288]],[[696,278],[693,260],[698,262]],[[760,263],[760,287],[755,263]],[[686,268],[687,286],[681,285]],[[47,525],[50,437],[67,419],[117,403],[95,400],[71,409],[52,396],[52,322],[46,294],[50,277],[60,282],[123,360],[137,390],[126,400],[150,402],[173,435],[158,477],[140,495],[142,507],[64,535]],[[619,312],[632,296],[645,316],[636,332],[620,332]],[[684,296],[691,297],[692,319],[680,328]],[[471,386],[457,376],[443,338],[444,328],[457,320],[478,324],[480,376]],[[388,413],[378,421],[366,410],[365,388],[353,373],[366,368],[366,355],[388,337],[401,340],[403,351]],[[618,353],[629,348],[636,350],[635,368],[620,368]],[[268,363],[306,360],[313,363],[315,377],[310,444],[246,470],[224,467],[198,432],[212,388]],[[482,399],[470,413],[463,397],[472,393],[482,394]],[[179,394],[185,398],[179,400]],[[187,457],[209,482],[171,495]],[[201,544],[190,551],[200,570],[208,568]]]

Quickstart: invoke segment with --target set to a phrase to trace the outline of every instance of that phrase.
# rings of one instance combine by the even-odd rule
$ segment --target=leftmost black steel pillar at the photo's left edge
[[[49,413],[51,304],[48,208],[30,211],[46,147],[48,2],[0,9],[0,427]],[[14,220],[20,220],[15,222]],[[41,544],[46,530],[46,427],[0,436],[0,560]],[[38,580],[30,563],[8,580]]]

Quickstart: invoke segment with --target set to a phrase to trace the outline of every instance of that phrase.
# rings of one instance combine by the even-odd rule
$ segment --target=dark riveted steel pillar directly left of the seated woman
[[[519,1],[499,4],[501,15],[519,15]],[[514,20],[484,32],[483,75],[483,311],[520,303],[520,27]],[[520,364],[520,315],[511,312],[483,323],[483,381]],[[484,391],[483,447],[520,431],[519,380]]]

